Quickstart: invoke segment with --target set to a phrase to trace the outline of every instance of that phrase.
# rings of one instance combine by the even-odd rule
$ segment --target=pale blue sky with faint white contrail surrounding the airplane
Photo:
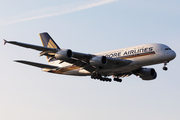
[[[2,120],[180,119],[178,0],[6,0],[0,5]],[[176,51],[168,64],[153,65],[154,81],[132,75],[122,83],[42,72],[13,60],[47,63],[39,52],[3,39],[41,45],[48,32],[61,48],[97,53],[147,43]]]

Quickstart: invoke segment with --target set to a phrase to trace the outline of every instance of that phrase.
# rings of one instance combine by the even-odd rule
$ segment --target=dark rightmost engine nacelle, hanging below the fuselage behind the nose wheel
[[[143,80],[154,80],[157,77],[157,73],[154,68],[142,68],[138,74]]]

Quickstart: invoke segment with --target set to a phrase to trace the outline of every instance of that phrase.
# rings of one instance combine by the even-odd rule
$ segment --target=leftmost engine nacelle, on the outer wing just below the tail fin
[[[67,60],[73,55],[70,49],[61,49],[55,54],[55,58],[58,60]]]

